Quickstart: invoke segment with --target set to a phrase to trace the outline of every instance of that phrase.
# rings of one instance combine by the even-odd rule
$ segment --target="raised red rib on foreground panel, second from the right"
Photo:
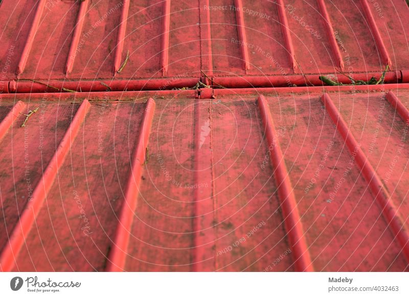
[[[337,131],[344,138],[351,154],[355,154],[354,157],[361,169],[361,173],[367,180],[369,187],[373,195],[375,196],[375,200],[378,202],[382,210],[382,214],[388,221],[389,226],[398,239],[402,247],[402,252],[405,255],[406,261],[409,262],[409,233],[406,227],[406,220],[403,220],[398,214],[397,208],[392,201],[391,195],[384,187],[382,181],[376,174],[376,171],[371,163],[368,161],[368,157],[365,155],[365,153],[363,153],[360,147],[361,145],[352,135],[347,123],[339,114],[339,111],[331,100],[331,97],[327,93],[324,93],[321,96],[321,100],[332,120],[334,121]]]

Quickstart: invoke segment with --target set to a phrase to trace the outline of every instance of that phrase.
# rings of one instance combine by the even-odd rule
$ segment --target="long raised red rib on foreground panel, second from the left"
[[[44,200],[47,199],[49,190],[58,176],[58,169],[70,152],[71,145],[79,132],[88,110],[89,102],[84,100],[59,144],[54,157],[34,189],[31,200],[29,200],[24,212],[20,215],[18,224],[14,227],[13,233],[9,237],[9,242],[0,254],[0,269],[2,271],[11,271],[14,267],[15,259],[18,257],[22,246],[26,243],[26,236],[36,222]]]

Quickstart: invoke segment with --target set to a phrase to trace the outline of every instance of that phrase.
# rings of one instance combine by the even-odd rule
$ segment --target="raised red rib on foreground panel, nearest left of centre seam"
[[[150,128],[153,114],[155,112],[155,101],[149,98],[146,103],[144,117],[138,136],[138,142],[133,154],[131,174],[128,178],[119,223],[115,233],[115,239],[109,254],[106,271],[123,271],[127,256],[129,236],[132,228],[134,210],[137,207],[139,187],[141,183],[143,164],[145,162],[145,150],[148,145]]]

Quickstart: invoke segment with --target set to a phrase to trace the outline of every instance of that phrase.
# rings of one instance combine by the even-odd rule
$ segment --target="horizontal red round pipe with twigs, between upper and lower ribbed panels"
[[[354,75],[355,80],[370,80],[372,77],[379,77],[379,73],[357,73]],[[350,81],[343,75],[338,75],[336,79],[340,83],[349,84]],[[109,85],[112,91],[139,91],[139,90],[165,90],[174,88],[192,88],[200,78],[172,78],[172,79],[151,79],[151,80],[101,80],[101,81],[59,81],[59,80],[19,80],[4,82],[6,87],[4,93],[42,93],[64,91],[62,88],[74,90],[77,92],[103,92],[106,85]],[[207,80],[207,78],[206,78]],[[205,80],[205,81],[206,81]],[[101,84],[104,83],[104,84]],[[403,82],[400,71],[389,72],[385,75],[385,82],[401,83]],[[285,87],[285,86],[310,86],[323,85],[316,76],[288,75],[280,76],[241,76],[237,78],[215,77],[206,83],[212,84],[215,88],[257,88],[257,87]],[[360,86],[356,86],[359,88]],[[372,88],[369,85],[368,88]],[[342,86],[340,86],[342,88]],[[348,87],[350,88],[350,87]],[[366,87],[367,88],[367,87]],[[376,88],[376,87],[375,87]],[[57,90],[58,89],[58,90]]]

